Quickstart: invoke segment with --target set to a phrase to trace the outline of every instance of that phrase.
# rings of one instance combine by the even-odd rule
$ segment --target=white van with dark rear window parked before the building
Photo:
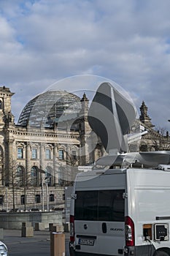
[[[70,222],[71,256],[170,256],[170,172],[79,173]]]

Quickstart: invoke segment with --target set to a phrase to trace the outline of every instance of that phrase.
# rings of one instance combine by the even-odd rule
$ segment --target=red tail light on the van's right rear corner
[[[125,245],[134,246],[134,222],[130,217],[125,217]]]

